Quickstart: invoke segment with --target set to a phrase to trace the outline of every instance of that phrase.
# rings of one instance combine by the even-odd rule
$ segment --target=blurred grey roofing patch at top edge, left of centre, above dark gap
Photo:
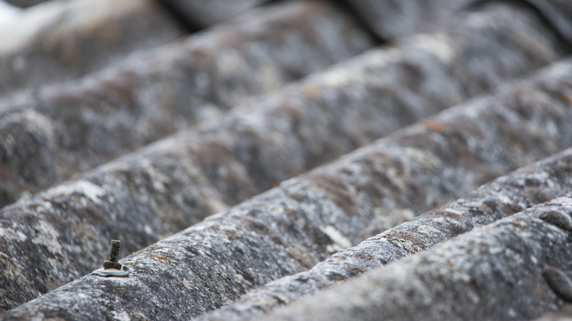
[[[269,0],[165,0],[194,25],[210,26]]]

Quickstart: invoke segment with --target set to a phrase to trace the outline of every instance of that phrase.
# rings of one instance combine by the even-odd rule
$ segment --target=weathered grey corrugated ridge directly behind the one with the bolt
[[[2,271],[21,271],[19,280],[0,279],[3,298],[10,298],[7,306],[92,271],[110,238],[122,240],[123,255],[140,250],[559,55],[549,31],[526,10],[501,5],[483,10],[475,14],[488,13],[486,26],[465,25],[463,15],[447,32],[373,50],[4,208],[1,224],[11,232],[2,236],[1,251],[9,256]],[[503,40],[507,37],[515,41]],[[435,51],[438,45],[442,51]],[[419,70],[421,83],[411,83],[411,70]],[[558,145],[561,139],[544,142]],[[560,147],[547,151],[555,148]],[[56,250],[34,243],[37,234],[53,240],[48,248]]]

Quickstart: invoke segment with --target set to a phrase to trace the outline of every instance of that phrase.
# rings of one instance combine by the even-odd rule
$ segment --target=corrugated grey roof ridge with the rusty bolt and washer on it
[[[210,216],[123,259],[133,271],[127,279],[84,276],[0,318],[190,318],[307,270],[391,220],[572,145],[571,70],[562,62]],[[541,130],[546,124],[554,130]]]

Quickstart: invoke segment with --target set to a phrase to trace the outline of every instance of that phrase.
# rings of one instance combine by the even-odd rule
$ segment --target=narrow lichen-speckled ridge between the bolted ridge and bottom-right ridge
[[[337,252],[308,271],[265,284],[198,320],[252,320],[475,227],[572,191],[572,149],[480,186],[462,198]],[[572,224],[570,225],[572,228]]]

